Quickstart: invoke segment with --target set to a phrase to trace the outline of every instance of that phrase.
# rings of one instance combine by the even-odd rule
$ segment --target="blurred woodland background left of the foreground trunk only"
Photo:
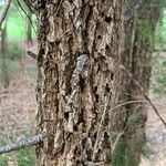
[[[20,8],[21,6],[21,8]],[[4,0],[0,0],[0,13]],[[13,0],[2,24],[0,52],[0,144],[34,134],[37,62],[37,18]],[[34,166],[33,148],[0,156],[0,166]]]

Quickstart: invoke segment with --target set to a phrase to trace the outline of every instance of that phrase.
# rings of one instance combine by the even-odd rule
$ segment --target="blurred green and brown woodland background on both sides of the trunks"
[[[0,13],[4,0],[0,0]],[[0,145],[22,139],[35,129],[37,61],[28,51],[38,53],[37,18],[22,3],[13,0],[0,34]],[[166,0],[160,3],[155,48],[151,98],[166,120]],[[166,166],[166,128],[148,108],[147,147],[142,166]],[[0,156],[0,166],[35,166],[34,148]]]

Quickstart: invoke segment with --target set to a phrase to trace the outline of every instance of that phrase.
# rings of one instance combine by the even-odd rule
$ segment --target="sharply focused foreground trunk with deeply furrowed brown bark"
[[[110,117],[122,1],[45,1],[39,11],[40,166],[111,165]],[[115,14],[116,13],[116,14]]]

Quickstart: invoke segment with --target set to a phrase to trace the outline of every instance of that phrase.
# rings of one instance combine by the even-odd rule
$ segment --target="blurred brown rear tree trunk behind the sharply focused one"
[[[145,93],[148,93],[151,79],[151,59],[153,37],[158,20],[158,1],[149,3],[148,10],[139,12],[124,29],[124,50],[116,68],[113,83],[112,106],[128,101],[142,101],[144,94],[136,85],[136,80]],[[128,75],[118,65],[123,65],[132,75]],[[126,104],[111,113],[113,142],[123,133],[113,153],[113,166],[137,166],[143,148],[145,147],[145,123],[147,118],[146,104]]]

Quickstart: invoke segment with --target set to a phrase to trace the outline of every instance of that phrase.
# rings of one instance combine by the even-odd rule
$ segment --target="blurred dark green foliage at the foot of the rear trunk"
[[[113,153],[112,166],[137,166],[139,160],[134,158],[136,154],[148,157],[152,151],[145,141],[138,136],[133,138],[122,137]]]

